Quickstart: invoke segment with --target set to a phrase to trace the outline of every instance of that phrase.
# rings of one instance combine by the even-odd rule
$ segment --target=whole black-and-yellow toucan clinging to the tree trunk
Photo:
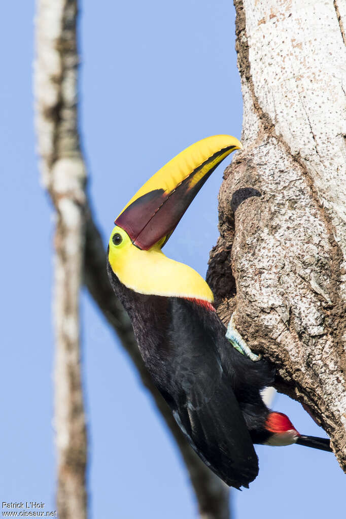
[[[254,444],[331,449],[328,439],[302,436],[286,415],[266,406],[261,391],[273,383],[274,368],[244,354],[232,327],[226,338],[207,283],[162,252],[205,181],[237,149],[238,139],[211,136],[152,176],[115,220],[107,272],[147,370],[188,442],[240,489],[258,474]]]

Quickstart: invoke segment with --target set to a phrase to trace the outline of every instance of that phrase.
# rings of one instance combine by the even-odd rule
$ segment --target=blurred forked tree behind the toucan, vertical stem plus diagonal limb
[[[55,425],[60,519],[87,516],[87,439],[80,377],[79,290],[85,282],[155,399],[184,458],[203,519],[229,517],[229,489],[193,452],[151,381],[130,320],[106,274],[105,250],[85,191],[77,112],[76,0],[38,0],[35,96],[42,179],[57,212],[54,321]],[[84,279],[83,279],[84,277]]]

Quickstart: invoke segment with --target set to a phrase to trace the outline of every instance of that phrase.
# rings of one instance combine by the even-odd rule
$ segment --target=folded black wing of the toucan
[[[209,312],[170,298],[166,353],[171,380],[162,393],[203,461],[228,485],[247,487],[258,474],[258,459],[223,370]]]

